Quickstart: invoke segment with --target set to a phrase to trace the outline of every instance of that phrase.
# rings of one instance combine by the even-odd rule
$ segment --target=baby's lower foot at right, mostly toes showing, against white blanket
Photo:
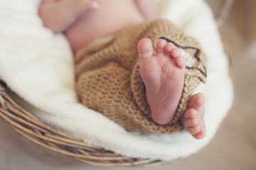
[[[188,102],[188,110],[181,118],[183,127],[196,139],[202,139],[206,135],[206,126],[203,122],[204,107],[206,99],[203,94],[191,96]]]

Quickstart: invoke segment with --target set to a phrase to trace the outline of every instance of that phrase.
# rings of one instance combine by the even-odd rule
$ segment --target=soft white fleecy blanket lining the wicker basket
[[[208,55],[208,83],[198,88],[206,95],[203,140],[194,140],[186,131],[172,135],[126,132],[112,120],[80,105],[75,97],[68,41],[43,27],[39,4],[40,0],[0,0],[0,77],[33,105],[23,103],[25,108],[74,137],[131,157],[187,157],[213,138],[233,103],[233,85],[218,28],[203,0],[164,0],[159,4],[161,18],[198,38]]]

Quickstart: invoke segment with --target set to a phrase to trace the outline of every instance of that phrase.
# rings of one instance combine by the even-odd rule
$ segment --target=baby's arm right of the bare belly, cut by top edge
[[[154,20],[157,17],[157,8],[155,0],[134,0],[139,11],[147,21]]]

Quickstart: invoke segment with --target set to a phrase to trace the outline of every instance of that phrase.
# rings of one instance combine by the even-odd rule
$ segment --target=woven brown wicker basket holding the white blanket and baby
[[[233,0],[223,1],[215,13],[219,27],[227,18],[231,4],[233,4]],[[10,93],[4,81],[0,81],[0,117],[11,125],[11,128],[21,137],[41,146],[47,152],[56,152],[61,157],[68,156],[79,162],[95,166],[158,166],[169,163],[153,159],[124,157],[103,148],[88,145],[42,123],[33,114],[21,108],[10,97]]]

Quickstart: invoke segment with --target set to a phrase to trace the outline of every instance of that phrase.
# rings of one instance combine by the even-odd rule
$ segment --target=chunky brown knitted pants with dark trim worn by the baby
[[[188,53],[182,96],[174,119],[159,125],[151,118],[146,90],[139,74],[137,44],[163,38]],[[75,56],[76,91],[80,102],[102,113],[129,131],[171,133],[182,130],[179,121],[188,99],[206,81],[206,57],[194,38],[166,20],[145,22],[115,36],[95,40]]]

